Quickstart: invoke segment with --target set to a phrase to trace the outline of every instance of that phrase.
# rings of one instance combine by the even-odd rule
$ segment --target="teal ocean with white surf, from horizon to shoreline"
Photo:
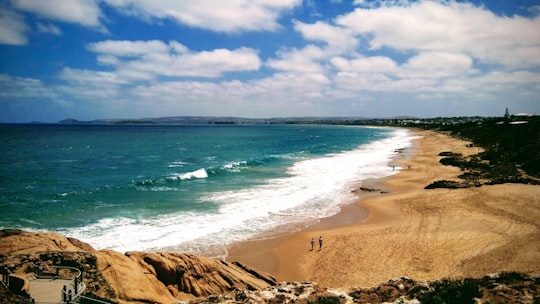
[[[324,125],[0,125],[0,228],[96,249],[225,256],[298,229],[395,174],[406,129]]]

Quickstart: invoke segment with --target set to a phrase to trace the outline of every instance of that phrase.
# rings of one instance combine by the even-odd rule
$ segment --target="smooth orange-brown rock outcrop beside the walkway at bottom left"
[[[0,231],[0,266],[29,275],[33,264],[76,267],[87,296],[118,303],[174,303],[276,284],[272,276],[239,263],[180,253],[122,254],[94,250],[58,233]]]

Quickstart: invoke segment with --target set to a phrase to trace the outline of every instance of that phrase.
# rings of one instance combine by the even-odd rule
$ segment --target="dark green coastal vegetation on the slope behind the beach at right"
[[[460,167],[462,182],[437,181],[427,188],[462,188],[483,184],[540,184],[540,118],[489,118],[456,124],[422,124],[472,142],[484,151],[463,157],[442,152],[441,163]]]

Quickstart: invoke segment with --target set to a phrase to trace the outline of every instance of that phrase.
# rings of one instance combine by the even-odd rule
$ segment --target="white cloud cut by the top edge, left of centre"
[[[129,15],[143,18],[173,18],[177,22],[216,32],[275,31],[283,12],[302,3],[301,0],[105,0]]]

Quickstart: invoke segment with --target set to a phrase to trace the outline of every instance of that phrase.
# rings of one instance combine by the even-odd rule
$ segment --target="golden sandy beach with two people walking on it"
[[[418,138],[410,157],[395,160],[402,170],[382,184],[370,182],[369,188],[388,193],[367,198],[360,193],[357,204],[301,232],[235,244],[227,260],[267,271],[278,281],[343,288],[371,287],[400,276],[540,273],[540,187],[425,190],[433,181],[457,180],[461,174],[439,163],[440,152],[471,155],[480,149],[432,131],[411,132]],[[316,242],[311,251],[311,238],[319,236],[322,250]]]

